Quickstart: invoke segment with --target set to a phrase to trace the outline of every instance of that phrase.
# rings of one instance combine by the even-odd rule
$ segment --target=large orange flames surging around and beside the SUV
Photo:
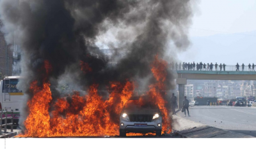
[[[86,63],[81,62],[81,66],[84,73],[92,71]],[[165,92],[161,92],[165,89],[166,67],[167,63],[156,56],[151,70],[157,82],[149,86],[147,94],[150,103],[161,110],[163,130],[170,133],[171,120],[164,100]],[[45,70],[47,75],[51,72],[48,61],[45,61]],[[45,79],[42,86],[37,83],[31,83],[30,92],[33,97],[27,103],[29,115],[24,121],[26,130],[20,137],[116,136],[119,134],[120,113],[134,90],[133,82],[110,82],[109,99],[104,100],[99,96],[98,85],[95,84],[88,89],[86,96],[74,92],[72,96],[53,101],[49,81]],[[138,104],[143,104],[141,99]]]

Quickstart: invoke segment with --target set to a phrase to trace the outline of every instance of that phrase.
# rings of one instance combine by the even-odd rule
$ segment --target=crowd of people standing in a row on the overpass
[[[181,64],[181,62],[178,64],[177,62],[174,64],[173,62],[172,62],[172,69],[176,69],[176,70],[189,70],[189,71],[212,71],[212,69],[213,69],[213,67],[215,67],[215,71],[226,71],[226,64],[225,63],[223,63],[223,64],[221,64],[220,63],[220,65],[219,64],[217,64],[217,62],[216,62],[216,64],[212,64],[212,62],[211,62],[211,64],[209,64],[209,63],[207,63],[207,64],[203,64],[202,62],[197,62],[196,64],[195,64],[195,62],[183,62],[183,64]],[[244,71],[244,64],[242,64],[241,65],[241,67],[242,67],[242,71]],[[237,63],[236,64],[236,71],[239,71],[239,64]],[[250,64],[249,63],[249,65],[248,65],[248,71],[255,71],[254,70],[254,68],[255,68],[255,64]]]

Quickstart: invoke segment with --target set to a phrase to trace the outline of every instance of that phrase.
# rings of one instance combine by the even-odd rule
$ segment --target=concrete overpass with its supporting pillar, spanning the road
[[[185,94],[185,85],[187,80],[256,80],[256,71],[251,71],[248,67],[244,67],[244,71],[236,71],[236,66],[226,67],[225,71],[197,71],[197,70],[176,70],[178,78],[176,79],[179,85],[178,104],[182,108],[182,101]]]

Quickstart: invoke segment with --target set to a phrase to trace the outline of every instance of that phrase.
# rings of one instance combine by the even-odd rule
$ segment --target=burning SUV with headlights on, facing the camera
[[[159,108],[148,103],[147,99],[128,101],[120,115],[119,131],[120,136],[126,136],[129,132],[152,132],[161,136],[162,115]]]

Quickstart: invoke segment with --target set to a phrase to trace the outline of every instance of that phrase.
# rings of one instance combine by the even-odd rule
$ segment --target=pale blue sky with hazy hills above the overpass
[[[256,63],[256,0],[201,0],[182,62]]]

